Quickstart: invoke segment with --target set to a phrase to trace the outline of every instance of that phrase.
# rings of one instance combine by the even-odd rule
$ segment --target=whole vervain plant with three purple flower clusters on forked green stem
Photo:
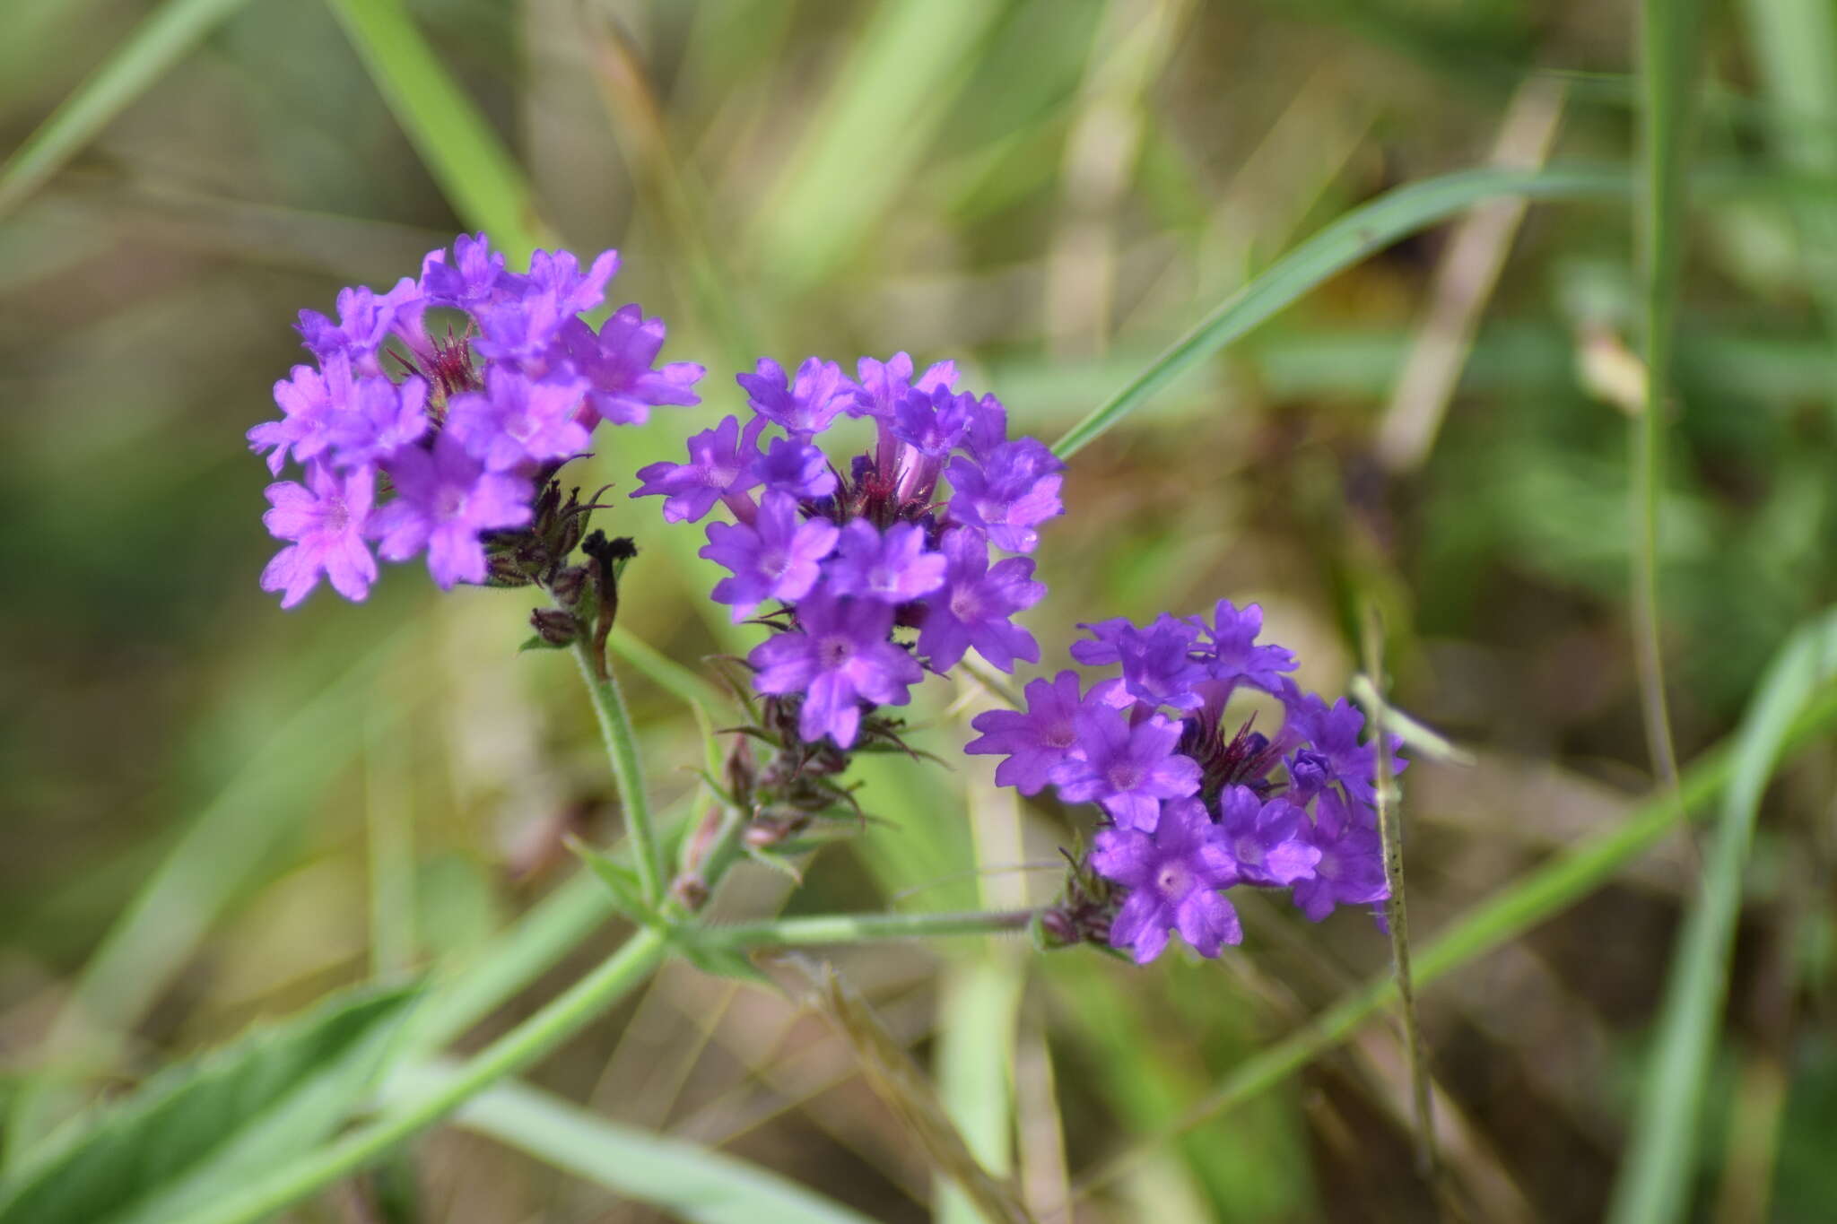
[[[386,1108],[208,1220],[257,1218],[375,1160],[601,1015],[667,954],[751,974],[751,947],[854,943],[1029,929],[1042,949],[1093,943],[1155,960],[1172,932],[1201,956],[1242,940],[1233,888],[1284,888],[1310,919],[1389,896],[1378,835],[1378,745],[1345,699],[1302,692],[1295,655],[1258,642],[1262,611],[1220,600],[1211,617],[1163,613],[1146,626],[1088,624],[1062,670],[1025,686],[1016,710],[974,719],[972,754],[999,754],[996,782],[1053,787],[1091,804],[1089,846],[1067,850],[1053,905],[1020,912],[805,916],[709,925],[700,914],[744,855],[786,861],[860,826],[849,767],[863,752],[909,752],[896,716],[928,673],[975,651],[1012,672],[1040,648],[1014,617],[1045,585],[1029,556],[1064,512],[1062,462],[1009,435],[994,395],[959,389],[953,363],[862,358],[795,373],[761,358],[737,376],[746,413],[689,439],[685,462],[643,468],[632,497],[663,517],[716,506],[702,556],[729,571],[711,598],[764,629],[729,679],[748,718],[729,729],[713,802],[663,862],[643,763],[606,657],[621,574],[637,554],[592,517],[608,506],[566,484],[599,426],[694,406],[704,369],[656,365],[658,319],[632,305],[599,328],[580,317],[617,268],[536,251],[505,266],[483,235],[426,257],[386,294],[351,288],[338,319],[301,312],[314,365],[276,385],[283,417],[250,431],[279,475],[268,530],[285,543],[263,573],[283,607],[325,580],[360,600],[377,558],[426,560],[443,587],[540,591],[531,648],[571,650],[599,716],[630,862],[582,848],[637,934],[601,969],[452,1075]],[[871,444],[836,440],[849,418]],[[825,450],[828,444],[828,450]],[[1264,710],[1244,712],[1244,697]],[[1257,719],[1277,712],[1264,732]],[[1403,767],[1387,745],[1394,773]],[[1372,910],[1378,912],[1378,910]],[[1381,914],[1380,914],[1381,919]]]

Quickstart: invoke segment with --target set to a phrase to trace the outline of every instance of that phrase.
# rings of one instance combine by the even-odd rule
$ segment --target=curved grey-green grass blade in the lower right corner
[[[1767,668],[1736,732],[1721,822],[1666,982],[1657,1050],[1646,1068],[1628,1158],[1607,1217],[1613,1224],[1664,1224],[1686,1215],[1696,1184],[1697,1121],[1729,995],[1729,962],[1754,820],[1793,721],[1817,688],[1830,681],[1833,666],[1837,613],[1826,613],[1795,633]]]

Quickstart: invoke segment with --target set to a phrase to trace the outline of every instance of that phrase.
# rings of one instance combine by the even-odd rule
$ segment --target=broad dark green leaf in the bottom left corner
[[[310,1151],[364,1097],[413,995],[345,995],[162,1074],[0,1182],[0,1224],[180,1220]]]

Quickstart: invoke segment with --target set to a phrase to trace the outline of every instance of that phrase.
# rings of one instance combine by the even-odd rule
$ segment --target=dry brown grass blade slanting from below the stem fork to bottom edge
[[[849,1042],[862,1064],[863,1079],[898,1114],[937,1171],[955,1182],[986,1218],[1001,1224],[1036,1224],[1016,1185],[988,1173],[970,1154],[963,1134],[944,1114],[931,1081],[880,1022],[867,1000],[841,980],[834,965],[799,962],[799,969],[810,982],[806,1004]]]

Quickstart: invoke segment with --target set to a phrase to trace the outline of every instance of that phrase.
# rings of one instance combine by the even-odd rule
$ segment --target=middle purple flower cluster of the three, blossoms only
[[[691,437],[689,461],[641,470],[632,495],[663,497],[669,521],[716,503],[733,516],[702,549],[729,571],[713,598],[735,620],[783,606],[748,662],[761,694],[801,703],[805,741],[851,747],[867,710],[906,705],[926,668],[970,650],[1003,672],[1040,659],[1012,618],[1045,587],[1029,558],[992,551],[1034,549],[1062,512],[1062,464],[1036,439],[1009,439],[996,396],[957,391],[952,362],[915,380],[904,352],[862,358],[854,380],[821,358],[792,374],[761,358],[737,382],[751,418]],[[849,417],[873,418],[876,437],[838,466],[817,439]]]

